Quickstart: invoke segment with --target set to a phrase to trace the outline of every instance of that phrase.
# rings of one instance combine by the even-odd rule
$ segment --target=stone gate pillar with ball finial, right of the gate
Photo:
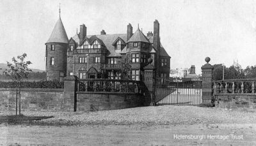
[[[206,57],[207,62],[202,66],[202,103],[201,106],[214,106],[213,101],[213,82],[212,82],[212,70],[213,66],[209,64],[210,57]]]

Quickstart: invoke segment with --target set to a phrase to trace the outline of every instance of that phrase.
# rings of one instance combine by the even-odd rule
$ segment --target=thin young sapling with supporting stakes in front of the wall
[[[18,55],[17,59],[12,58],[12,63],[7,61],[8,69],[3,71],[4,75],[12,78],[16,84],[16,91],[19,90],[19,115],[20,115],[20,85],[25,78],[28,78],[29,73],[32,71],[28,68],[30,61],[25,61],[27,54]],[[18,94],[18,92],[16,92]],[[17,96],[16,96],[17,97]],[[17,99],[16,99],[16,115],[17,115]]]

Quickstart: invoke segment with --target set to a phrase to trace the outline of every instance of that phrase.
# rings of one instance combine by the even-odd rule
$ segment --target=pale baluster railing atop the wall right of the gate
[[[255,94],[256,78],[218,80],[214,82],[215,94]]]

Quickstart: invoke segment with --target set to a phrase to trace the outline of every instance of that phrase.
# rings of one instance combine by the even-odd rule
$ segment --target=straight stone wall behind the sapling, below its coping
[[[68,96],[63,89],[21,89],[21,110],[73,111],[74,102]],[[15,111],[15,101],[15,89],[0,89],[0,111]]]

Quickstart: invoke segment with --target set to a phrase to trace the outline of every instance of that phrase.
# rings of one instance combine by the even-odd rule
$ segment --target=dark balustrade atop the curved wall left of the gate
[[[111,80],[111,79],[78,79],[77,91],[80,92],[127,92],[142,93],[145,86],[135,80]]]

